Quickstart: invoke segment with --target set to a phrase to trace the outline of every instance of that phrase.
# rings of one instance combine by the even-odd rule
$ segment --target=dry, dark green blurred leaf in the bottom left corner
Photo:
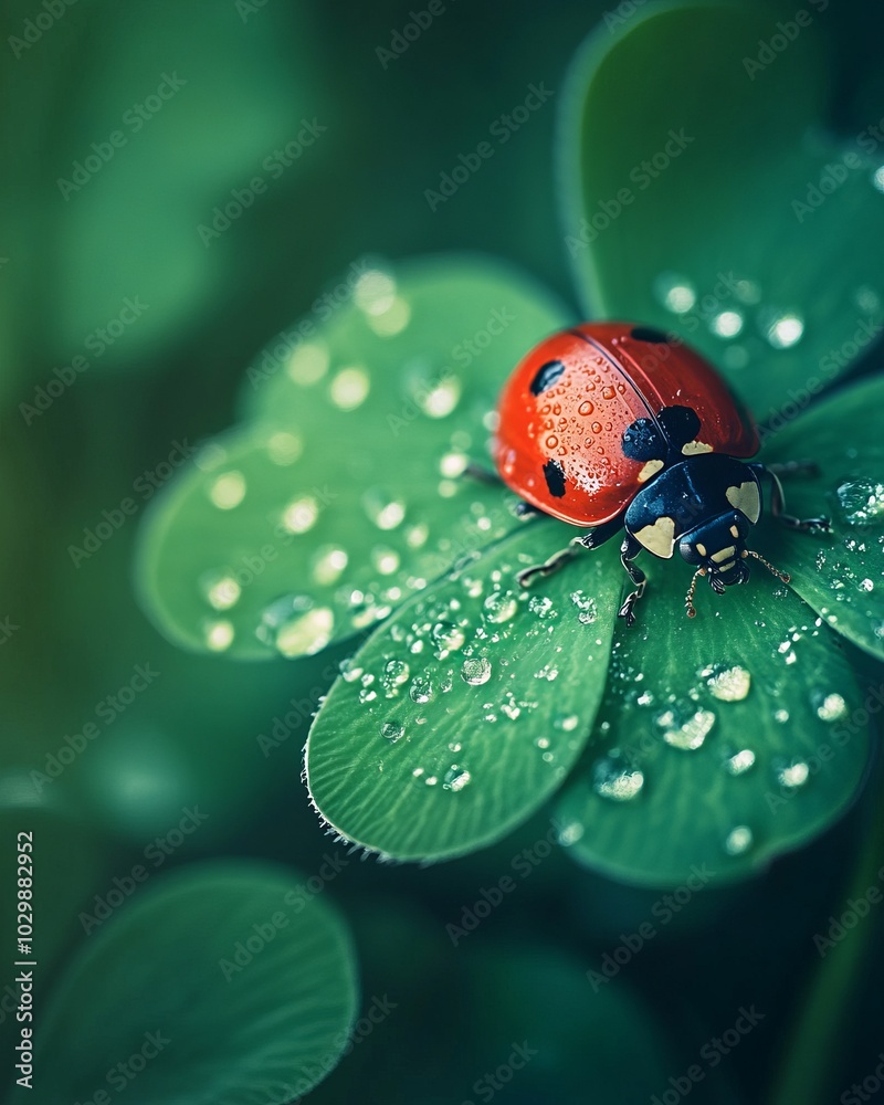
[[[92,1101],[108,1085],[128,1105],[306,1093],[335,1065],[356,1008],[337,912],[290,873],[253,864],[160,878],[105,923],[52,994],[35,1033],[41,1099]]]

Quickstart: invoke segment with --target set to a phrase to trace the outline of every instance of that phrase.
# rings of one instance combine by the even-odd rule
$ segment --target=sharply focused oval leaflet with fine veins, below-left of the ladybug
[[[583,554],[536,591],[514,573],[572,534],[528,523],[412,599],[356,654],[306,748],[311,793],[339,833],[399,860],[459,855],[561,783],[601,701],[615,549]]]

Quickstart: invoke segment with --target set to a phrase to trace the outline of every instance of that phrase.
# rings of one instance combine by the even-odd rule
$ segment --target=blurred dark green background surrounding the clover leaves
[[[305,315],[355,259],[487,251],[570,297],[555,204],[552,109],[538,112],[435,211],[423,193],[523,102],[532,82],[559,87],[575,49],[606,11],[598,0],[551,10],[522,2],[505,13],[490,0],[452,3],[432,31],[382,69],[377,48],[389,46],[414,6],[352,7],[344,19],[334,6],[282,0],[242,10],[227,0],[135,7],[78,0],[56,3],[63,13],[28,32],[34,41],[27,46],[10,43],[25,34],[27,21],[40,17],[45,24],[51,7],[14,0],[0,17],[7,50],[0,133],[8,151],[0,204],[0,502],[11,522],[0,546],[4,1055],[18,1029],[9,1003],[15,969],[7,891],[17,832],[33,831],[39,843],[38,1025],[41,1018],[46,1023],[63,971],[88,947],[80,914],[115,876],[151,862],[147,850],[164,856],[150,887],[157,895],[171,869],[206,855],[275,860],[304,873],[328,862],[332,842],[299,782],[307,718],[272,757],[257,743],[292,699],[315,701],[327,690],[327,659],[234,665],[167,644],[134,600],[135,529],[165,482],[176,442],[196,443],[230,424],[255,351]],[[771,10],[771,23],[777,18],[782,13]],[[884,115],[881,17],[852,2],[832,6],[827,19],[835,61],[829,118],[851,136]],[[135,130],[125,113],[157,94],[169,72],[191,83]],[[272,177],[265,159],[297,141],[304,120],[314,118],[327,134]],[[59,179],[72,179],[76,161],[101,158],[92,144],[104,149],[116,129],[126,144],[65,199]],[[256,176],[266,179],[266,192],[204,244],[199,227]],[[138,296],[150,306],[129,325],[129,305],[115,324],[126,298]],[[101,336],[87,345],[96,330],[113,345]],[[77,356],[90,366],[72,376]],[[133,513],[124,501],[133,502]],[[105,512],[116,519],[119,511],[124,522],[114,527]],[[84,530],[99,525],[112,527],[109,536],[75,564],[70,547],[83,548]],[[160,673],[143,691],[139,665]],[[877,685],[878,671],[864,680]],[[96,735],[83,736],[90,724]],[[65,764],[78,737],[85,750]],[[55,778],[53,757],[62,768]],[[36,786],[33,771],[51,781]],[[544,818],[503,844],[432,869],[346,856],[324,893],[356,932],[364,1011],[389,991],[402,1014],[376,1025],[315,1099],[351,1099],[373,1071],[389,1087],[377,1099],[430,1101],[435,1090],[427,1087],[427,1071],[443,1056],[446,1099],[460,1093],[465,1101],[476,1078],[506,1061],[513,1042],[530,1038],[543,1059],[527,1069],[527,1081],[514,1075],[508,1101],[537,1101],[548,1090],[557,1101],[582,1102],[598,1071],[598,1099],[646,1101],[751,1002],[765,1011],[764,1027],[709,1075],[704,1092],[716,1102],[760,1099],[817,977],[813,934],[828,932],[848,895],[869,885],[864,869],[853,883],[848,869],[857,842],[877,839],[866,808],[876,782],[865,804],[810,848],[739,890],[704,890],[666,923],[655,892],[578,871],[555,852],[541,856]],[[173,844],[169,835],[192,806],[209,819]],[[519,864],[528,865],[525,878],[513,867],[523,851],[532,856]],[[504,875],[516,890],[454,949],[445,926],[462,925],[463,911],[487,901],[482,891]],[[120,908],[108,933],[136,906],[137,899]],[[600,991],[611,991],[609,1004],[596,1004],[580,971],[599,968],[624,934],[648,922],[655,937]],[[880,911],[872,911],[851,937],[861,941],[854,957],[861,967],[846,972],[825,1007],[841,1034],[813,1038],[824,1057],[814,1090],[821,1102],[877,1062],[881,925]],[[829,961],[838,962],[849,944]],[[144,949],[134,941],[128,950]],[[115,992],[135,1010],[193,997],[183,969],[165,979],[148,971],[137,989],[124,971]],[[568,1031],[549,1031],[557,1012]],[[88,1034],[99,1074],[104,1063],[125,1057],[102,1054],[103,1032],[96,1024]],[[628,1054],[618,1050],[624,1038],[638,1041]],[[790,1062],[807,1059],[803,1040],[786,1052]],[[219,1032],[219,1054],[225,1046]],[[618,1082],[606,1056],[623,1056],[622,1066],[639,1053],[654,1080],[644,1084],[641,1072],[630,1071],[630,1081]],[[42,1063],[45,1077],[49,1060]],[[11,1073],[9,1064],[10,1082]],[[31,1099],[55,1101],[40,1092]]]

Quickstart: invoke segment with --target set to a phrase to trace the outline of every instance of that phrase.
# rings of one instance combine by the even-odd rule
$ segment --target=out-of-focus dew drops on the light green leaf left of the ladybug
[[[370,269],[356,282],[354,306],[361,312],[369,328],[378,338],[392,338],[410,324],[412,304],[397,285],[389,271]],[[352,411],[360,407],[371,390],[371,376],[365,364],[334,365],[332,354],[319,339],[297,344],[287,356],[284,372],[298,387],[324,387],[333,407]],[[419,373],[420,375],[420,373]],[[412,381],[417,409],[428,419],[444,419],[461,401],[461,382],[453,375],[436,375],[424,381]],[[486,419],[486,429],[493,430],[494,413]],[[261,443],[272,465],[294,465],[304,453],[302,435],[293,429],[269,431]],[[438,461],[438,492],[451,498],[464,486],[460,481],[467,464],[471,435],[463,430],[451,434],[448,451]],[[224,448],[213,442],[197,456],[197,465],[207,474],[206,491],[212,506],[219,511],[234,511],[249,493],[245,473],[228,463]],[[341,586],[334,591],[334,603],[320,604],[302,593],[284,594],[269,602],[261,612],[255,636],[283,656],[312,655],[328,644],[335,634],[343,610],[348,625],[355,630],[368,628],[390,614],[394,606],[413,591],[427,586],[432,566],[438,575],[451,541],[440,535],[430,543],[430,527],[425,522],[411,520],[407,504],[390,497],[378,488],[368,488],[361,496],[361,508],[368,522],[377,528],[380,540],[360,550],[376,585],[370,589]],[[286,537],[311,535],[324,509],[320,497],[314,493],[297,493],[288,498],[271,519]],[[493,539],[501,536],[501,522],[496,524],[481,502],[470,503],[464,516],[465,533]],[[512,519],[509,519],[512,520]],[[499,532],[498,532],[499,530]],[[453,546],[452,546],[453,547]],[[400,572],[402,555],[414,570]],[[425,557],[425,562],[420,558]],[[417,558],[417,559],[415,559]],[[348,566],[351,554],[340,544],[318,545],[311,559],[311,582],[317,588],[334,588]],[[238,568],[240,566],[236,566]],[[224,652],[231,648],[236,628],[230,612],[243,594],[243,575],[248,571],[212,569],[199,579],[199,591],[211,608],[212,614],[203,619],[201,632],[211,651]]]

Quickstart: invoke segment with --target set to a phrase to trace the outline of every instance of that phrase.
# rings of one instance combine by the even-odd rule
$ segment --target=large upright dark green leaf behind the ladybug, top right
[[[864,248],[884,235],[881,155],[866,154],[867,134],[839,144],[822,131],[814,27],[755,64],[775,14],[675,3],[599,31],[561,119],[566,245],[586,309],[673,329],[761,418],[809,366],[834,379],[884,319],[884,256]]]

